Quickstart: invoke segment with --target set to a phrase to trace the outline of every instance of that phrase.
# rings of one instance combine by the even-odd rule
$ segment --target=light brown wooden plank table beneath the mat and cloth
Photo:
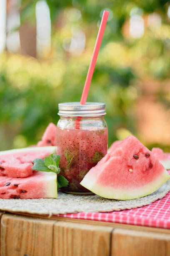
[[[1,256],[170,256],[170,230],[0,212]]]

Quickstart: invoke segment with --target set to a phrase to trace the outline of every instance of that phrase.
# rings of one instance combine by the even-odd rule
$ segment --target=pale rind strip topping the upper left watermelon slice
[[[21,151],[23,153],[23,152],[30,152],[30,151],[47,151],[49,149],[50,149],[51,154],[52,154],[52,153],[56,153],[56,148],[57,148],[56,146],[16,148],[16,149],[11,149],[11,150],[0,151],[0,156],[20,153]]]

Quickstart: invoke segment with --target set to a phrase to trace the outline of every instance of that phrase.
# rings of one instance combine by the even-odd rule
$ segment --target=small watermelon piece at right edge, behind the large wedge
[[[164,153],[161,148],[153,148],[151,152],[165,167],[165,169],[170,169],[170,153]]]

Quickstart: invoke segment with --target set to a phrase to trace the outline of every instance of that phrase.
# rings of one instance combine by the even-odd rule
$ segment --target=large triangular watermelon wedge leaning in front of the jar
[[[153,153],[130,135],[92,167],[80,184],[101,197],[130,200],[153,193],[169,178]]]

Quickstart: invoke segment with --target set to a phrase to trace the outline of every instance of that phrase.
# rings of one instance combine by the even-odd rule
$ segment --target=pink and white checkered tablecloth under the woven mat
[[[170,173],[170,171],[169,171]],[[119,212],[79,212],[58,215],[60,217],[100,220],[114,223],[125,223],[157,228],[170,228],[170,192],[160,200],[140,208]]]

